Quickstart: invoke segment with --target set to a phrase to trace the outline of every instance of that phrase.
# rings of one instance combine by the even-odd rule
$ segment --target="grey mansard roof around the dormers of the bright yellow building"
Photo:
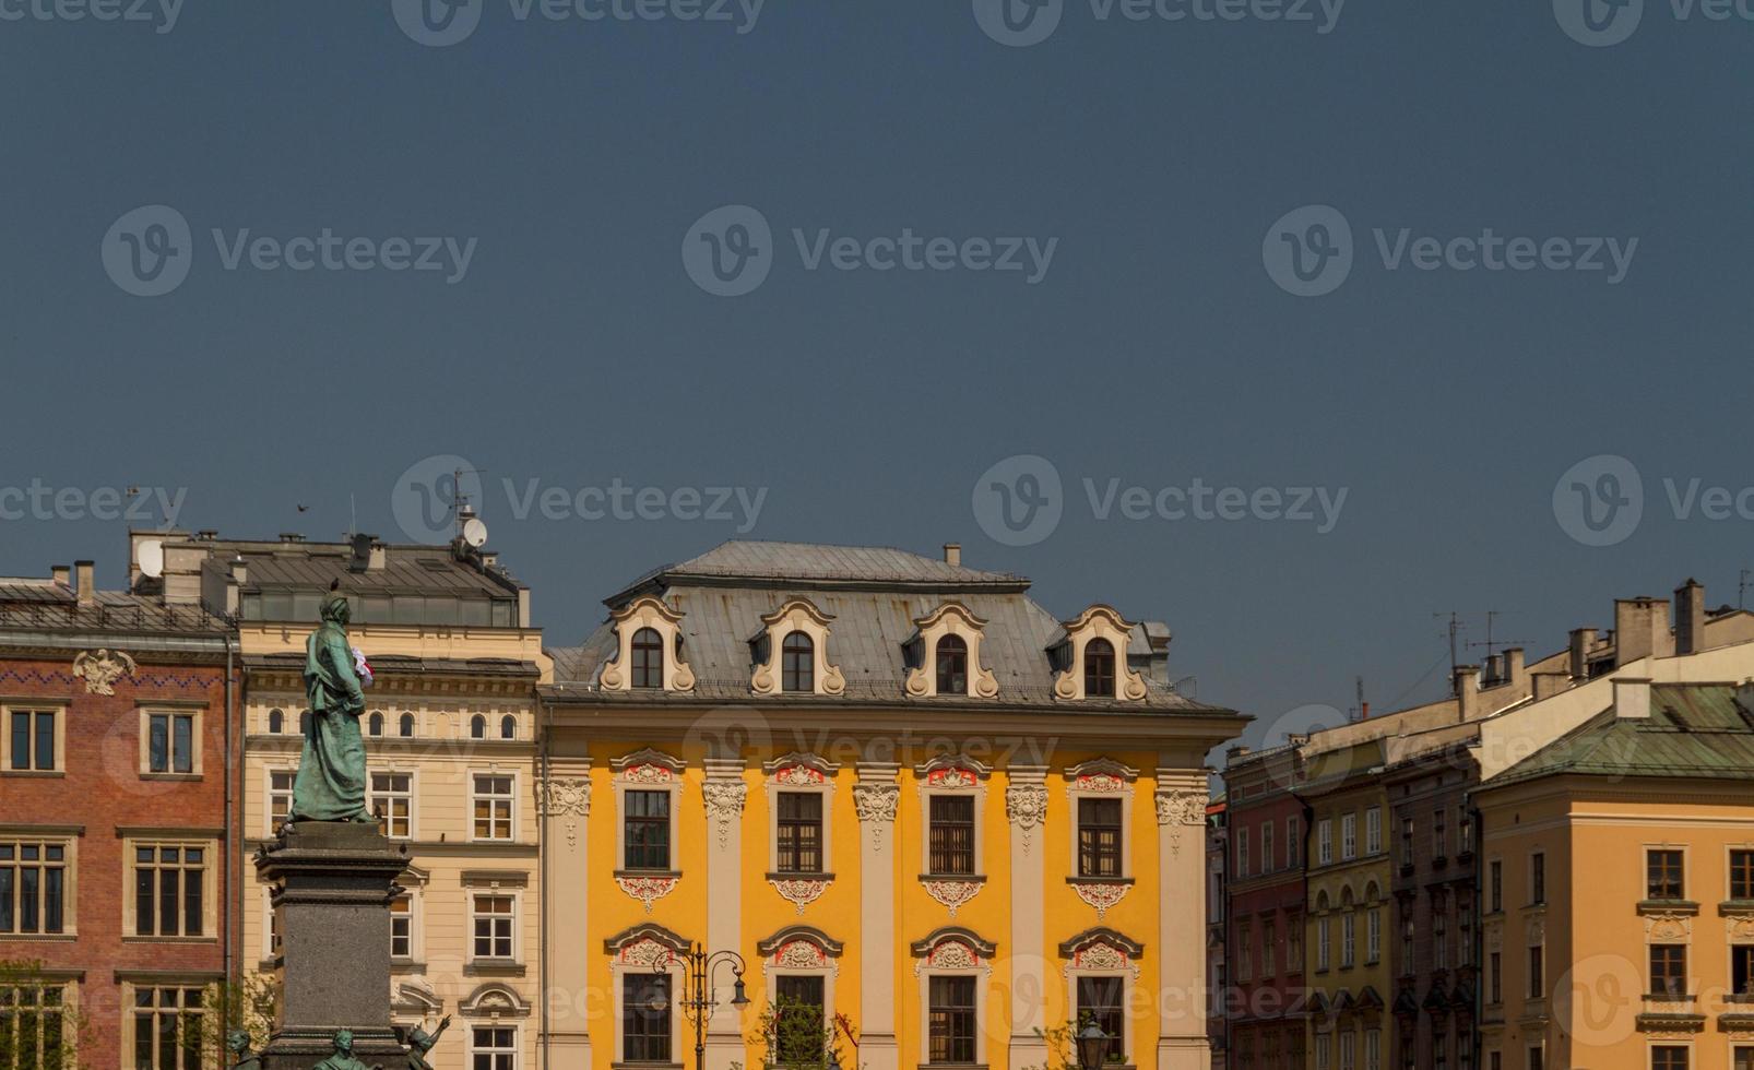
[[[754,663],[749,640],[765,630],[761,617],[788,600],[807,598],[833,617],[826,656],[847,681],[845,700],[979,702],[907,700],[903,691],[909,668],[903,644],[916,631],[914,621],[956,600],[986,621],[980,660],[998,679],[1000,702],[1052,705],[1047,647],[1065,628],[1026,595],[1028,584],[1017,575],[959,568],[898,549],[728,542],[693,561],[660,568],[607,602],[617,607],[658,595],[682,614],[682,660],[696,677],[695,700],[749,698]],[[1135,672],[1145,675],[1149,696],[1144,703],[1114,703],[1117,709],[1209,709],[1149,675],[1144,624],[1135,624],[1130,638],[1128,654]],[[554,679],[572,684],[563,689],[589,691],[616,654],[614,626],[605,621],[582,647],[549,654]],[[651,693],[596,695],[617,702],[665,700]]]

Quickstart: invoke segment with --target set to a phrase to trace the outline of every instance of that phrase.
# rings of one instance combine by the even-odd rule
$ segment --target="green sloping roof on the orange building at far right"
[[[1754,688],[1652,684],[1649,717],[1617,717],[1614,707],[1524,758],[1489,786],[1556,774],[1605,777],[1754,779]]]

